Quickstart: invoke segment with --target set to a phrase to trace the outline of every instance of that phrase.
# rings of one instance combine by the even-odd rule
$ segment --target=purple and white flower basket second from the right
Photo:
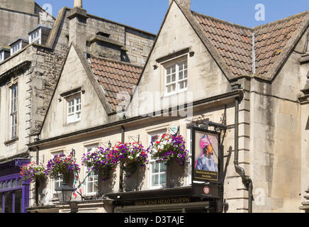
[[[142,143],[125,143],[118,142],[116,149],[120,154],[120,158],[123,159],[121,162],[125,170],[125,177],[133,175],[137,168],[147,165],[147,155],[150,148],[145,149]]]

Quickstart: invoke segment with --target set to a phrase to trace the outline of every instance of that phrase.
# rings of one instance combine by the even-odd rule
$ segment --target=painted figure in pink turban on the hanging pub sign
[[[203,149],[203,155],[198,158],[196,165],[196,170],[207,170],[212,172],[218,172],[217,164],[213,160],[213,145],[211,145],[210,140],[207,135],[204,135],[200,141],[201,149]]]

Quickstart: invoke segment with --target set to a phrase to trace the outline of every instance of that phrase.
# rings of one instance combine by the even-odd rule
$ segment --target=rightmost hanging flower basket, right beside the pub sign
[[[152,143],[152,157],[159,159],[158,162],[176,160],[179,165],[184,166],[188,160],[189,151],[186,150],[186,141],[181,135],[163,134]]]

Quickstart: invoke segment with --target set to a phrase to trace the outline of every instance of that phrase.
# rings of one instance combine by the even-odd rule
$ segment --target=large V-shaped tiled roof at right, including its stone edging
[[[273,79],[309,25],[309,11],[247,28],[190,11],[174,2],[229,80],[252,74]]]

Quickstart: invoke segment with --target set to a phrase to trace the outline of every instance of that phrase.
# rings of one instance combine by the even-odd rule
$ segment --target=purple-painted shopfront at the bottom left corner
[[[0,164],[0,213],[26,213],[29,205],[29,182],[19,174],[28,159],[17,158]]]

